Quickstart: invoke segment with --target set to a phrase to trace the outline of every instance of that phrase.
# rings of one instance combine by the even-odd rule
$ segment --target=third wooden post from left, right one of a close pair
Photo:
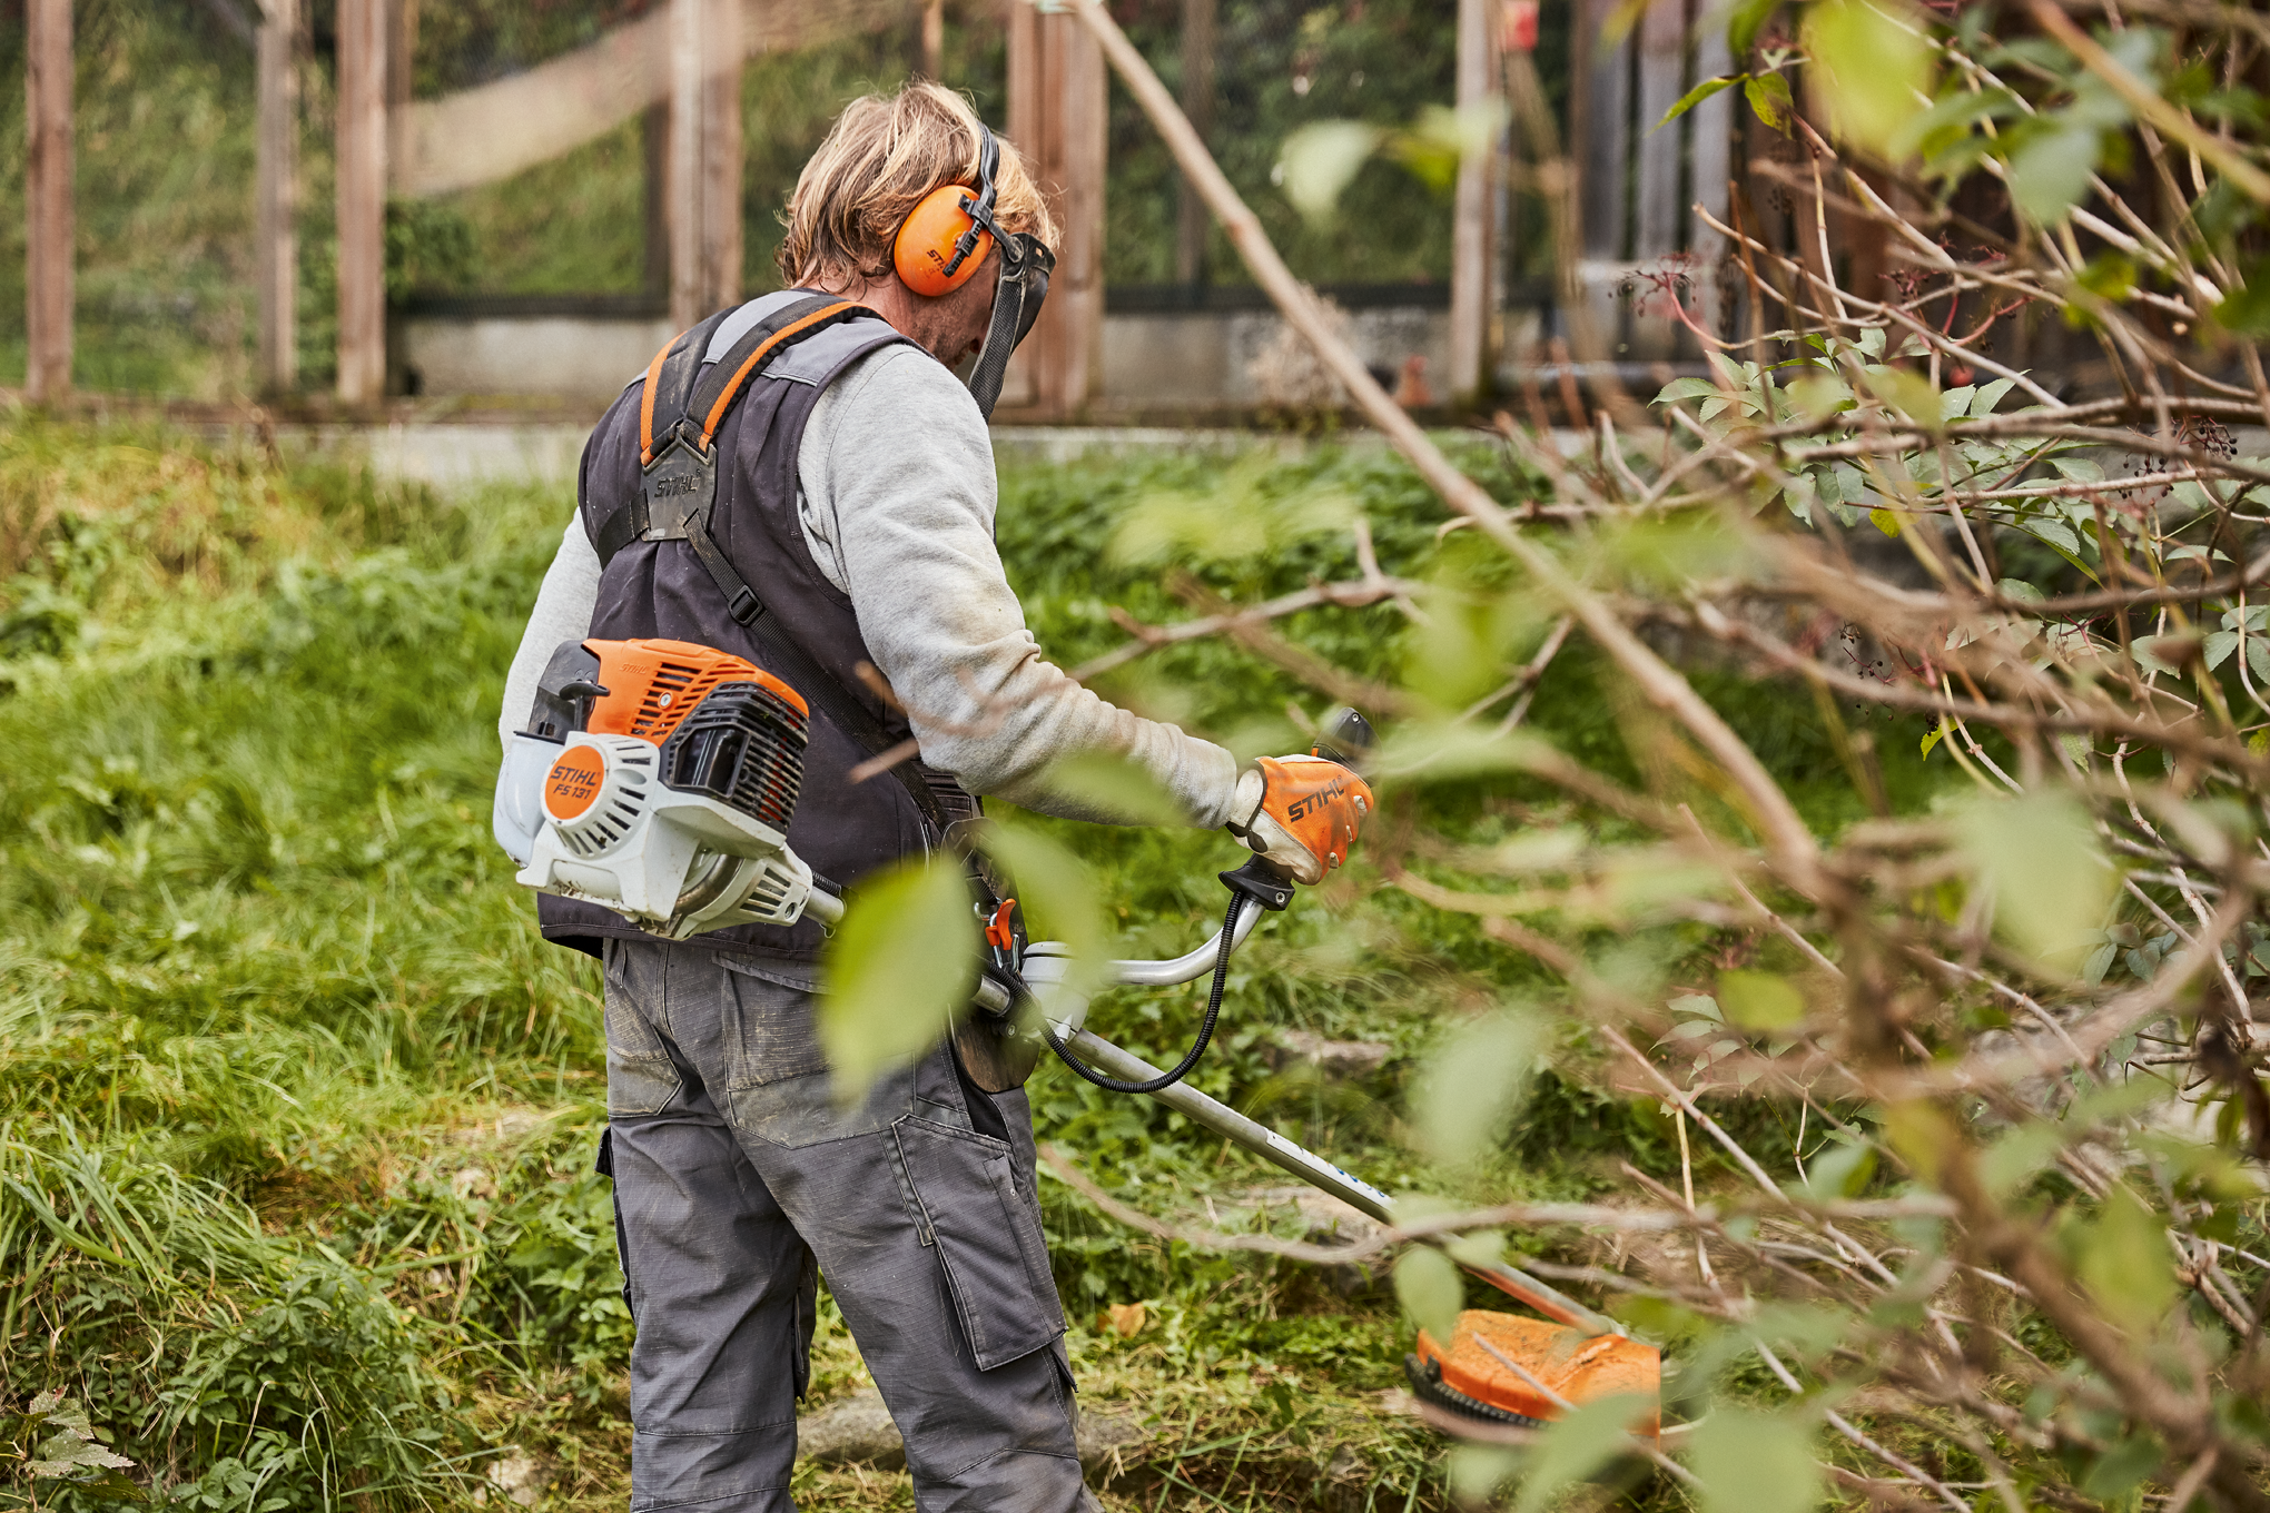
[[[386,392],[386,0],[338,0],[338,402]]]

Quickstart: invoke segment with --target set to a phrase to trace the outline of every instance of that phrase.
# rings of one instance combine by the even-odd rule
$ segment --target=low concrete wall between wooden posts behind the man
[[[1355,349],[1378,370],[1426,358],[1441,388],[1448,311],[1348,313]],[[1276,311],[1128,311],[1103,318],[1103,411],[1208,411],[1264,399],[1253,358],[1278,338]],[[422,397],[533,395],[604,404],[645,372],[672,329],[636,315],[397,318],[402,365]],[[1003,413],[1003,417],[1008,417]]]

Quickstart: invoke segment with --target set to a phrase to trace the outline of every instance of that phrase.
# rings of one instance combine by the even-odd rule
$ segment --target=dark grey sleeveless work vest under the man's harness
[[[708,356],[722,356],[749,324],[799,293],[785,290],[745,304],[717,329]],[[711,535],[765,601],[772,635],[801,646],[892,739],[906,739],[906,717],[858,681],[858,665],[874,660],[860,640],[858,615],[851,599],[819,572],[797,517],[797,451],[813,406],[854,361],[897,340],[906,338],[883,320],[849,320],[804,338],[749,379],[715,438],[720,463]],[[583,447],[577,510],[592,540],[608,515],[638,497],[642,390],[645,379],[622,390]],[[767,665],[756,640],[726,612],[724,594],[683,540],[633,540],[615,553],[599,574],[590,635],[695,642],[781,671]],[[838,730],[817,699],[806,699],[813,705],[810,746],[804,753],[804,794],[788,826],[788,844],[815,873],[838,885],[858,882],[903,855],[919,855],[938,837],[926,835],[928,826],[915,801],[890,776],[854,785],[849,771],[872,753]],[[949,817],[976,814],[976,798],[951,776],[919,764],[917,771]],[[540,896],[536,916],[545,939],[592,955],[599,953],[602,937],[654,939],[613,910],[574,898]],[[808,962],[819,953],[819,925],[806,919],[792,930],[738,925],[686,944],[754,960]]]

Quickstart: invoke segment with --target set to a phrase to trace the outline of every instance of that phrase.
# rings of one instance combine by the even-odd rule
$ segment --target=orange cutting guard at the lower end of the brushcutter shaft
[[[1523,1418],[1559,1418],[1562,1409],[1523,1381],[1521,1372],[1510,1370],[1482,1341],[1569,1402],[1584,1404],[1614,1393],[1643,1397],[1643,1404],[1632,1404],[1632,1434],[1653,1438],[1662,1427],[1664,1359],[1655,1345],[1485,1309],[1457,1316],[1448,1352],[1426,1329],[1419,1332],[1419,1359],[1441,1363],[1444,1386]]]

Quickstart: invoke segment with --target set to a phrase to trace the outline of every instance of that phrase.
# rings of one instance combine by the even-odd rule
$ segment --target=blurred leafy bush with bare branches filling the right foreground
[[[1503,1245],[1516,1225],[1594,1257],[1553,1275],[1614,1291],[1684,1363],[1666,1406],[1716,1404],[1680,1452],[1707,1506],[1809,1506],[1823,1427],[1827,1474],[1870,1502],[2016,1511],[2150,1488],[2172,1508],[2270,1506],[2270,1082],[2252,1003],[2270,975],[2270,603],[2252,601],[2270,449],[2234,431],[2270,422],[2259,18],[2034,5],[2018,36],[1952,2],[1741,7],[1741,73],[1673,116],[1741,86],[1771,152],[1725,218],[1698,206],[1723,238],[1714,304],[1684,274],[1655,295],[1712,377],[1650,406],[1603,392],[1582,447],[1541,431],[1541,404],[1539,426],[1500,415],[1498,442],[1557,495],[1516,517],[1364,372],[1105,9],[1078,11],[1285,320],[1469,522],[1460,540],[1498,558],[1244,610],[1194,588],[1199,619],[1121,617],[1137,640],[1083,674],[1233,635],[1348,692],[1264,626],[1407,603],[1426,622],[1414,676],[1371,690],[1396,719],[1394,823],[1369,860],[1557,973],[1559,1039],[1678,1125],[1684,1191],[1623,1168],[1653,1209],[1505,1205],[1426,1239]],[[1528,141],[1530,181],[1562,206],[1550,134]],[[1841,256],[1832,218],[1877,254]],[[1580,311],[1569,236],[1555,243]],[[1609,356],[1582,327],[1575,356]],[[2011,331],[2057,329],[2095,356],[1998,356]],[[1510,690],[1537,606],[1564,619],[1528,665],[1544,676],[1571,628],[1605,660],[1639,787],[1462,721],[1421,676],[1423,646],[1451,644],[1430,624],[1466,615],[1512,628],[1462,642],[1480,665],[1460,671]],[[1705,694],[1730,669],[1818,717],[1873,819],[1800,808]],[[1920,753],[1954,774],[1905,812],[1873,728],[1900,710],[1932,717]],[[1444,783],[1480,785],[1528,830],[1462,839],[1455,808],[1428,801]],[[1564,801],[1519,798],[1539,783]],[[1668,939],[1721,939],[1714,980],[1664,982],[1650,960],[1678,950],[1648,941]],[[1487,1091],[1503,1127],[1537,1037],[1507,1037],[1485,1068],[1448,1043],[1441,1057],[1469,1057],[1455,1087]],[[1453,1084],[1437,1073],[1412,1093],[1416,1130],[1451,1118],[1428,1105]],[[1796,1114],[1773,1157],[1786,1175],[1734,1118],[1759,1100]],[[1691,1195],[1689,1125],[1759,1207]],[[1326,1259],[1165,1225],[1065,1177],[1158,1236]],[[1911,1207],[1836,1207],[1855,1200]],[[1603,1225],[1693,1245],[1632,1277]],[[1419,1236],[1371,1245],[1394,1239]],[[1743,1356],[1766,1370],[1737,1384]],[[1619,1454],[1578,1452],[1580,1422],[1500,1463],[1530,1477],[1521,1506]],[[1762,1488],[1757,1465],[1800,1468],[1796,1490]]]

